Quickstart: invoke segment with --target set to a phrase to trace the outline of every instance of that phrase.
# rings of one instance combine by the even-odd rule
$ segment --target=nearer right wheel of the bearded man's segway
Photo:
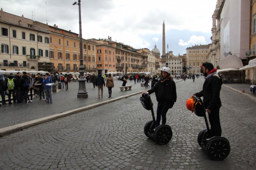
[[[205,151],[212,160],[221,161],[229,155],[230,143],[224,137],[214,137],[207,142]]]

